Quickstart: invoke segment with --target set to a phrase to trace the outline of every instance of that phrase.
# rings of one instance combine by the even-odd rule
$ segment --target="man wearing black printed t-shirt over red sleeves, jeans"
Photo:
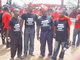
[[[60,45],[62,45],[61,52],[59,55],[59,60],[63,60],[65,48],[67,48],[69,33],[70,33],[70,18],[65,16],[63,10],[59,12],[59,19],[54,21],[54,31],[55,31],[55,48],[52,56],[52,60],[57,60],[57,55],[60,50]]]

